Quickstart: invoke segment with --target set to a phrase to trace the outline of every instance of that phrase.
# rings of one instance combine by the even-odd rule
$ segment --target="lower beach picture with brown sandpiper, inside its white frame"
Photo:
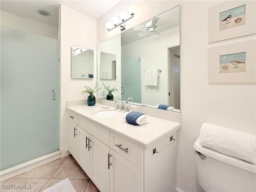
[[[220,73],[246,72],[246,52],[220,55]]]

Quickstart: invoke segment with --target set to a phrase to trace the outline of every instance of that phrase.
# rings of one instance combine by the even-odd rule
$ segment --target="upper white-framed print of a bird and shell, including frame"
[[[256,1],[225,1],[209,8],[209,43],[256,33]]]

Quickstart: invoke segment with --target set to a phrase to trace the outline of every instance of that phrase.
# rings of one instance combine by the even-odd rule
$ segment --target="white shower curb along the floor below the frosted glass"
[[[21,163],[19,165],[15,165],[13,167],[4,169],[0,171],[0,181],[12,178],[18,174],[24,173],[33,168],[39,167],[41,165],[44,165],[46,163],[59,159],[60,155],[61,155],[60,151],[55,151],[53,153],[44,155],[42,157],[38,157],[36,159],[27,161],[25,163]]]

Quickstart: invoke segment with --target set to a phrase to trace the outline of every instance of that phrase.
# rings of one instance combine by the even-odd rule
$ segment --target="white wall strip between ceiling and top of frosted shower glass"
[[[50,37],[58,39],[58,28],[51,25],[47,25],[35,20],[30,20],[18,15],[14,15],[5,11],[0,11],[1,13],[1,26],[8,27],[12,29],[17,29],[20,31],[25,31],[28,33],[33,33],[36,35],[42,35],[45,37]]]

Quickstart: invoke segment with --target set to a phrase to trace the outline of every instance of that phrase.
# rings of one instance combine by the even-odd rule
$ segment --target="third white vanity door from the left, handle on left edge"
[[[97,188],[109,191],[108,153],[109,147],[93,137],[90,141],[90,179]]]

